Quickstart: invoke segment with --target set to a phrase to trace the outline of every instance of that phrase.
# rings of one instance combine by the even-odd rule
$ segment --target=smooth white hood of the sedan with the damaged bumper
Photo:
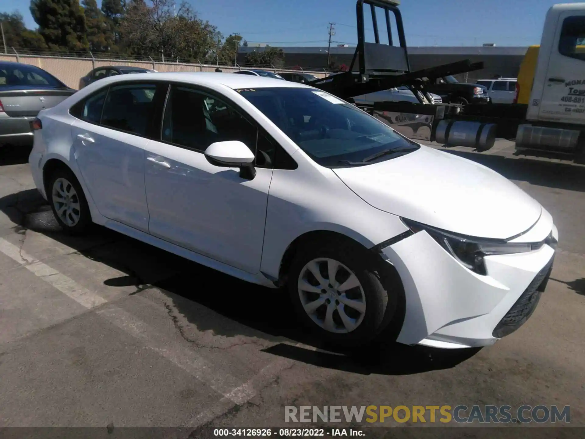
[[[497,172],[426,146],[333,172],[373,207],[457,234],[510,238],[532,227],[542,211]]]

